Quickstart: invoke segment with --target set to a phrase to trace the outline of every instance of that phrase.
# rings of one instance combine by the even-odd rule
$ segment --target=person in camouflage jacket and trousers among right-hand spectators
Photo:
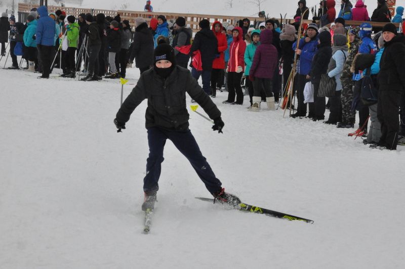
[[[358,48],[360,47],[361,40],[358,35],[359,28],[349,29],[349,55],[347,56],[345,65],[343,67],[343,73],[340,77],[342,81],[342,120],[338,123],[337,127],[341,128],[352,128],[354,126],[355,112],[351,110],[351,103],[353,100],[353,85],[352,73],[350,72],[350,67],[353,63],[353,59],[358,53]]]

